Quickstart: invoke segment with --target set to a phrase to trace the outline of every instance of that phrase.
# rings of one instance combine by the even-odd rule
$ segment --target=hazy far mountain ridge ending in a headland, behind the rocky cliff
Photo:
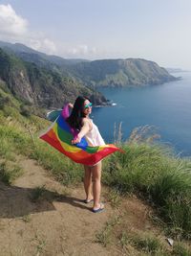
[[[57,72],[64,77],[71,77],[86,86],[129,86],[156,85],[167,81],[175,81],[168,71],[150,60],[141,58],[126,59],[67,59],[34,51],[16,43],[0,41],[0,47],[17,58],[35,63],[38,67]]]

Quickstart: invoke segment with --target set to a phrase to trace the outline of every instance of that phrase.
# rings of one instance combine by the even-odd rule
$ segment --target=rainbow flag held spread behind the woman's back
[[[72,144],[76,131],[65,121],[66,116],[68,116],[68,109],[64,108],[53,125],[48,128],[48,131],[40,136],[40,139],[49,143],[74,162],[89,166],[95,165],[110,153],[121,151],[113,144],[90,147],[85,138],[82,138],[80,143]]]

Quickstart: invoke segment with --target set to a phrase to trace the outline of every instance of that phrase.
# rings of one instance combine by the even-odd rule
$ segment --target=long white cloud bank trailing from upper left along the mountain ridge
[[[20,42],[34,50],[64,58],[91,58],[96,55],[95,47],[87,44],[72,47],[64,42],[55,42],[42,32],[30,30],[30,22],[18,15],[10,4],[0,4],[0,40]]]

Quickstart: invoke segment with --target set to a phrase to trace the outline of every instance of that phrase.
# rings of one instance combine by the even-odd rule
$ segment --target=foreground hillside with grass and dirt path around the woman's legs
[[[0,255],[190,255],[189,159],[133,132],[103,161],[105,210],[94,214],[83,167],[38,139],[50,123],[0,96]]]

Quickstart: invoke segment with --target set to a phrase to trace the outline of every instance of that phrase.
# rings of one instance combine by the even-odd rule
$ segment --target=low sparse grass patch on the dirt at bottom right
[[[104,247],[116,244],[121,255],[174,255],[164,239],[162,242],[156,234],[132,229],[124,218],[125,215],[120,213],[107,221],[104,228],[96,233],[96,243]]]

